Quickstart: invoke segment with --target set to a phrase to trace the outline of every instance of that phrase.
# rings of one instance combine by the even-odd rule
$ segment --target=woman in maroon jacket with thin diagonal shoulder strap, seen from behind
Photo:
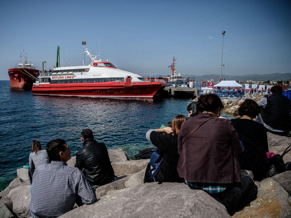
[[[243,147],[230,120],[218,118],[223,108],[218,96],[200,96],[197,107],[199,114],[183,122],[179,132],[177,170],[190,188],[219,193],[241,182],[236,156]]]

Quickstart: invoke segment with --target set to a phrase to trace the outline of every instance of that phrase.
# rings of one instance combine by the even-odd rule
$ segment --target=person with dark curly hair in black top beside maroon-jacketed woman
[[[238,113],[241,118],[231,120],[231,124],[236,129],[238,138],[244,146],[244,151],[239,157],[241,169],[252,171],[255,181],[261,181],[266,178],[266,152],[269,151],[265,127],[253,121],[259,112],[260,108],[258,104],[251,99],[247,99],[238,108]]]

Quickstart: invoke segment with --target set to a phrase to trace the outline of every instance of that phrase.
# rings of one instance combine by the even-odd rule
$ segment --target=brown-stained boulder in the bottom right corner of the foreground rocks
[[[258,196],[233,217],[291,217],[290,195],[273,179],[258,183]]]

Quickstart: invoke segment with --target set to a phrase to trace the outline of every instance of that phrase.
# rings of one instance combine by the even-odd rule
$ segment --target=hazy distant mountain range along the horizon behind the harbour
[[[167,75],[155,75],[155,77],[162,76],[163,78],[166,78]],[[189,75],[189,74],[182,74],[182,76],[185,78],[187,77],[195,77],[196,81],[206,81],[210,79],[214,79],[214,81],[219,81],[220,74],[208,74],[208,75],[202,75],[202,76],[196,76],[196,75]],[[151,77],[151,76],[143,76],[143,77]],[[231,75],[224,75],[222,74],[222,78],[225,80],[238,80],[238,81],[275,81],[275,80],[291,80],[291,73],[274,73],[274,74],[247,74],[247,75],[237,75],[237,76],[231,76]]]

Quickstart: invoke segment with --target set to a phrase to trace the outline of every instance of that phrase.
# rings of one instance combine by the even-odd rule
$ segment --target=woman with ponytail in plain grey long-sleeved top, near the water
[[[29,168],[28,168],[28,176],[30,183],[32,183],[32,177],[35,168],[37,168],[40,164],[49,163],[48,162],[48,153],[46,150],[41,148],[38,140],[33,140],[31,144],[31,153],[29,154]]]

